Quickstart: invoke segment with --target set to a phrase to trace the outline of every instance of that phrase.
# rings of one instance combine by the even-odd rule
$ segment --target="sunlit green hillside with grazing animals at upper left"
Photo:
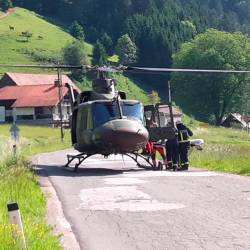
[[[10,30],[9,26],[12,26],[14,30]],[[25,31],[32,33],[28,41],[21,36]],[[73,39],[71,35],[47,22],[42,16],[25,9],[15,8],[14,13],[0,19],[0,63],[57,62],[61,49]],[[92,45],[87,43],[85,45],[88,61],[90,61]],[[7,70],[30,71],[30,69],[1,68],[0,74]]]

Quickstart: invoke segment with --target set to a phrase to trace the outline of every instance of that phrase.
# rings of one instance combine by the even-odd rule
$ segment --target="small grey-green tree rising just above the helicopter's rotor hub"
[[[130,65],[137,61],[137,47],[128,34],[118,39],[115,51],[121,64]]]

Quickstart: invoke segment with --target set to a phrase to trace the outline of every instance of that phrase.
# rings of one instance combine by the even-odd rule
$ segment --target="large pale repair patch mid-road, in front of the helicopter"
[[[178,203],[161,203],[138,190],[136,186],[101,187],[82,189],[80,209],[99,211],[151,212],[181,209],[186,206]]]

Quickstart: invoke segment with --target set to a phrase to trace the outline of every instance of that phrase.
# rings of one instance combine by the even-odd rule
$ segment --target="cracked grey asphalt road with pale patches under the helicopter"
[[[35,163],[56,189],[81,249],[250,249],[248,177],[148,171],[120,156],[93,156],[72,173],[61,167],[66,151]]]

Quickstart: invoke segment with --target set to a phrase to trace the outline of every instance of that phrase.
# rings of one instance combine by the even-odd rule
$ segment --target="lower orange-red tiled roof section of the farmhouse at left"
[[[62,87],[62,95],[68,93]],[[15,100],[12,107],[51,107],[59,103],[58,87],[55,85],[9,86],[0,88],[0,100]]]

